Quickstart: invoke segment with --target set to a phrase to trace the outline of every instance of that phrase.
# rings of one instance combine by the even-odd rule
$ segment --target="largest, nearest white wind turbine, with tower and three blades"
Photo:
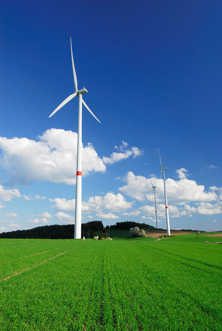
[[[83,101],[82,95],[87,93],[87,90],[83,87],[82,90],[78,90],[77,87],[77,77],[73,61],[73,50],[72,50],[72,40],[70,38],[71,44],[71,56],[73,65],[73,76],[75,93],[71,94],[66,98],[49,116],[54,115],[60,108],[62,108],[67,102],[72,100],[76,95],[79,97],[79,119],[78,119],[78,142],[77,142],[77,167],[76,167],[76,208],[75,208],[75,239],[81,239],[81,225],[82,225],[82,103],[87,108],[90,114],[94,116],[99,122],[98,118],[91,112],[86,103]],[[100,122],[99,122],[100,123]]]

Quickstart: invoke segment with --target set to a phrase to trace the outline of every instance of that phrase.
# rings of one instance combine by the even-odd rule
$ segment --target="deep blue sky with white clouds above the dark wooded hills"
[[[1,4],[0,230],[74,222],[78,88],[83,218],[222,230],[220,1]],[[84,106],[83,106],[84,107]],[[15,138],[17,137],[17,138]],[[156,179],[155,179],[156,178]],[[166,228],[163,181],[159,226]]]

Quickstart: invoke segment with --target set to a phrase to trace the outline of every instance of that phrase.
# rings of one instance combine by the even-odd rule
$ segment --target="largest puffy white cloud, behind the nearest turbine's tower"
[[[11,180],[18,184],[44,180],[75,184],[77,133],[51,128],[38,138],[39,141],[0,137],[0,164],[7,170]],[[92,171],[106,170],[92,144],[83,147],[82,157],[83,176]]]

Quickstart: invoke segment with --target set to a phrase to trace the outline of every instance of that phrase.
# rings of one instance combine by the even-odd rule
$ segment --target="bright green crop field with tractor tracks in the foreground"
[[[123,231],[0,239],[0,330],[222,330],[221,238]]]

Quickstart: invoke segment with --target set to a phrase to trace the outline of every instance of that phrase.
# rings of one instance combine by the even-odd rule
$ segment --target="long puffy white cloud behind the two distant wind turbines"
[[[129,171],[124,180],[126,185],[119,187],[121,192],[139,201],[152,201],[152,187],[149,179],[136,176],[132,171]],[[205,192],[203,185],[198,185],[194,180],[187,178],[178,181],[167,178],[166,187],[168,201],[176,205],[183,205],[192,201],[213,201],[217,199],[217,194],[214,191]],[[157,185],[157,188],[156,199],[158,202],[164,202],[163,179],[160,181],[160,189],[159,185]]]

